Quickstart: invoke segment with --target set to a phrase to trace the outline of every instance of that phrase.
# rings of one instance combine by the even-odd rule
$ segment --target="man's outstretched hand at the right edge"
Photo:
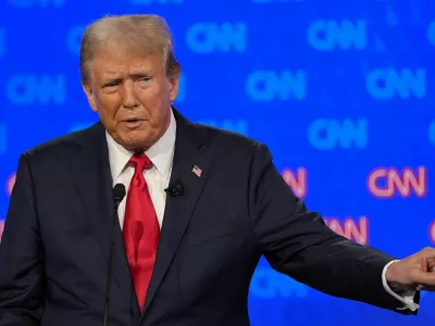
[[[435,291],[435,249],[425,248],[391,264],[385,278],[391,289]]]

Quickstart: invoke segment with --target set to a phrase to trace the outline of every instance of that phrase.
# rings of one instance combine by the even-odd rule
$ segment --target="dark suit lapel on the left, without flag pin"
[[[78,139],[82,150],[71,161],[72,178],[109,267],[110,236],[115,212],[104,127],[97,123],[82,136]],[[119,221],[114,233],[112,281],[119,283],[126,300],[129,300],[132,280]],[[108,271],[108,267],[104,271]],[[107,275],[101,277],[105,278]]]

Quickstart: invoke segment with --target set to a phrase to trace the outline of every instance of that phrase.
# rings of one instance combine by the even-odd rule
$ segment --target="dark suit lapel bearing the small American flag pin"
[[[174,115],[177,121],[177,131],[170,185],[181,181],[184,195],[166,198],[163,226],[142,317],[170,267],[211,168],[211,162],[203,153],[204,150],[201,150],[207,141],[206,133],[190,124],[175,110]],[[192,172],[194,166],[201,170],[199,176]]]

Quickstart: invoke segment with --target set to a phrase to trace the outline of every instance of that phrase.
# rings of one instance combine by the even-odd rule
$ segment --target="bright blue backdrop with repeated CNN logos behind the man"
[[[434,246],[432,0],[2,0],[0,216],[18,154],[96,121],[79,39],[119,13],[166,17],[184,70],[177,109],[268,143],[331,228],[399,258]],[[423,293],[419,316],[403,317],[331,298],[265,261],[249,297],[254,326],[423,325],[434,306]]]

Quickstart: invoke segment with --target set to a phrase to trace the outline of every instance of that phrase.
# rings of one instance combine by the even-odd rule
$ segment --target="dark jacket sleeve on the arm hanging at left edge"
[[[0,326],[40,325],[42,266],[32,171],[23,154],[0,243]]]

